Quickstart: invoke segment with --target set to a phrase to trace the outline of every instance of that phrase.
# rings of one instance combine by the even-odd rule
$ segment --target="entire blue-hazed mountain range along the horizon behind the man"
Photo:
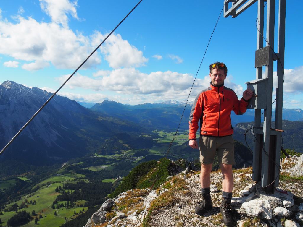
[[[51,95],[52,93],[37,87],[28,88],[13,81],[5,81],[0,85],[1,147],[8,143]],[[133,138],[132,142],[137,143],[138,140],[134,138],[141,133],[150,133],[155,129],[173,132],[178,127],[184,106],[184,102],[178,101],[124,105],[105,100],[88,109],[67,97],[55,95],[0,155],[0,160],[16,159],[36,165],[64,162],[88,153],[101,153],[108,146],[106,140],[115,138],[118,133],[127,133],[129,139]],[[185,108],[180,129],[188,129],[190,109],[189,104]],[[248,110],[241,116],[235,116],[233,112],[231,115],[233,125],[251,122],[253,118],[254,110]],[[300,121],[303,119],[303,111],[283,109],[283,118]],[[286,128],[287,125],[289,124],[285,124]],[[301,124],[291,125],[285,146],[301,151],[303,148],[300,141],[303,135],[298,128]],[[238,138],[237,133],[239,131],[241,135],[243,132],[238,128],[245,127],[248,126],[235,127],[235,139],[244,144],[243,136]],[[144,143],[149,144],[146,141]],[[104,152],[106,153],[105,150]]]

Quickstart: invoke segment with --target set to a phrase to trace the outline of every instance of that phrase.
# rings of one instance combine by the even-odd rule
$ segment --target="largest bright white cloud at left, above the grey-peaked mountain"
[[[95,49],[91,39],[55,23],[19,17],[16,24],[0,21],[0,54],[24,61],[45,61],[57,68],[76,68]],[[100,64],[95,53],[84,68]]]

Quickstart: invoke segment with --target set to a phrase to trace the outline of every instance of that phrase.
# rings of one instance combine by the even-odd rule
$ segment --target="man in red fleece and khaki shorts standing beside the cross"
[[[189,146],[198,149],[196,132],[200,121],[200,162],[201,162],[201,196],[202,200],[195,207],[195,212],[202,215],[212,209],[210,195],[210,172],[214,157],[218,155],[222,181],[221,214],[225,225],[232,224],[231,197],[234,186],[232,164],[235,163],[233,129],[230,113],[233,110],[237,115],[245,113],[248,100],[253,91],[243,92],[238,100],[235,92],[224,86],[227,76],[227,67],[224,63],[216,62],[209,66],[210,87],[202,90],[196,97],[189,117]]]

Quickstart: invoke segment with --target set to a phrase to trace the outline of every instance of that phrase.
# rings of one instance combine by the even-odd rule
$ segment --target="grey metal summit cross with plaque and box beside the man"
[[[284,82],[285,50],[285,8],[286,0],[279,0],[278,47],[274,53],[275,35],[275,0],[225,0],[224,17],[237,17],[255,2],[258,2],[257,50],[255,53],[256,80],[247,82],[247,87],[254,90],[255,96],[248,108],[255,109],[256,137],[253,154],[252,179],[261,181],[266,192],[273,193],[274,186],[279,186],[279,163],[281,151],[282,100]],[[264,2],[267,2],[266,46],[263,47]],[[271,128],[273,62],[277,62],[277,88],[275,125]],[[262,67],[265,75],[262,77]],[[264,124],[261,127],[261,109],[264,110]]]

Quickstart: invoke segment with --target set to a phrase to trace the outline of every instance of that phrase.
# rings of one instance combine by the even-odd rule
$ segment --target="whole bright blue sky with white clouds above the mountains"
[[[0,83],[57,90],[136,3],[1,1]],[[94,103],[185,100],[222,6],[222,0],[143,0],[59,94]],[[283,107],[289,109],[303,109],[302,7],[287,1]],[[221,15],[191,100],[209,86],[208,65],[215,61],[227,65],[225,85],[239,97],[255,79],[256,16],[256,3],[237,18]]]

